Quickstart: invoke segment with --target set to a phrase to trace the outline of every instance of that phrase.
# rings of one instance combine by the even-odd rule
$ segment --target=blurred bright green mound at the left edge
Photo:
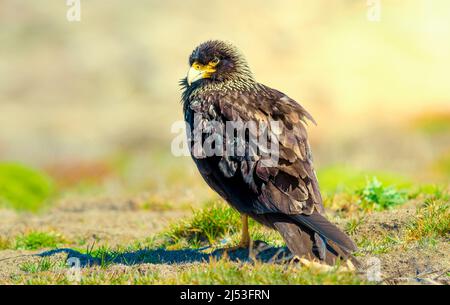
[[[21,164],[0,163],[0,206],[34,212],[53,191],[54,184],[45,174]]]

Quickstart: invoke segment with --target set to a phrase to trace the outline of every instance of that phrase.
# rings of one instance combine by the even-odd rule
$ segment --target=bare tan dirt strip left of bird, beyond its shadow
[[[153,236],[187,213],[142,210],[130,200],[67,200],[42,214],[0,210],[0,236],[13,240],[27,231],[56,231],[73,244],[126,246]]]

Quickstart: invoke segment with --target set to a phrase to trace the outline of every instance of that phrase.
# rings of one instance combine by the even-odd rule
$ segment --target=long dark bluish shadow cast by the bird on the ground
[[[49,257],[59,253],[67,253],[67,260],[77,258],[81,267],[107,264],[186,264],[195,262],[207,262],[210,259],[219,259],[228,256],[232,261],[252,261],[256,259],[261,262],[283,262],[289,260],[292,256],[286,247],[272,247],[262,241],[255,241],[252,251],[248,249],[238,249],[224,253],[224,249],[217,249],[207,253],[208,248],[201,249],[181,249],[167,250],[141,249],[130,252],[115,252],[99,258],[89,254],[83,254],[73,249],[62,248],[39,253],[40,257]],[[249,255],[249,252],[251,252]],[[73,262],[73,259],[71,260]]]

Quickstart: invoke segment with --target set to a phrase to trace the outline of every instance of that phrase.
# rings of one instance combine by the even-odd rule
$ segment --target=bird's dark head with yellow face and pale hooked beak
[[[210,40],[200,44],[189,57],[187,84],[252,80],[244,56],[230,43]]]

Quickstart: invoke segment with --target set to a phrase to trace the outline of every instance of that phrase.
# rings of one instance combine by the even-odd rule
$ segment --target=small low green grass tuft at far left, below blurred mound
[[[20,250],[56,248],[64,243],[67,241],[59,233],[32,231],[16,237],[15,248]]]

